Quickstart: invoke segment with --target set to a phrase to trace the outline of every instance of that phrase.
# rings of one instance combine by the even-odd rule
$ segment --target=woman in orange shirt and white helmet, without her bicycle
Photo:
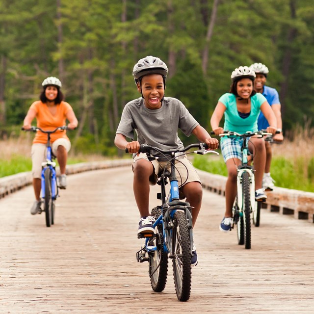
[[[78,119],[68,103],[63,101],[63,94],[60,90],[62,86],[58,78],[49,77],[44,79],[43,91],[40,95],[40,101],[34,102],[24,119],[23,128],[29,130],[34,118],[37,120],[37,127],[44,131],[51,131],[57,127],[66,125],[74,130],[78,126]],[[56,131],[51,134],[52,153],[57,157],[60,166],[59,188],[66,188],[65,167],[67,163],[68,152],[71,143],[66,135],[66,131]],[[46,160],[47,135],[37,131],[31,148],[32,158],[32,176],[35,192],[35,202],[30,210],[31,214],[36,214],[41,207],[41,163]]]

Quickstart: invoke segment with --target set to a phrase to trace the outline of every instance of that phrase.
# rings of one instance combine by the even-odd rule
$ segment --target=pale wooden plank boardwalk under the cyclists
[[[97,185],[96,185],[97,184]],[[95,186],[96,185],[96,186]],[[152,206],[157,204],[152,189]],[[314,225],[262,209],[252,249],[218,225],[224,198],[204,191],[188,302],[172,267],[162,293],[137,263],[138,211],[130,167],[68,177],[55,225],[32,216],[32,187],[0,200],[0,314],[314,313]]]

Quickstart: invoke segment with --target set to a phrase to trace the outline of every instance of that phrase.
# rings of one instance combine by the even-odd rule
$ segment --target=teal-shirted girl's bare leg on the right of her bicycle
[[[255,170],[255,189],[262,188],[262,179],[266,162],[266,150],[264,140],[262,138],[251,137],[249,141],[249,149],[253,151],[254,170]]]

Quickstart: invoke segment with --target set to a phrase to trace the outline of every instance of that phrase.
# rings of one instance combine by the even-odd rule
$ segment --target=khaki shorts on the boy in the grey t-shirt
[[[139,156],[135,156],[133,159],[132,170],[134,169],[135,162],[139,159],[148,160],[147,155],[144,153],[140,153]],[[167,170],[170,169],[170,162],[158,161],[158,159],[157,159],[157,160],[152,160],[151,163],[153,164],[155,173],[149,178],[149,182],[151,185],[155,185],[157,183],[158,173],[160,171],[162,171],[165,167]],[[200,180],[196,170],[194,169],[193,165],[186,158],[185,155],[183,158],[177,159],[175,161],[175,166],[176,166],[176,177],[178,179],[179,187],[181,187],[182,185],[189,183],[189,182],[195,182],[196,181],[196,182],[201,183],[201,180]]]

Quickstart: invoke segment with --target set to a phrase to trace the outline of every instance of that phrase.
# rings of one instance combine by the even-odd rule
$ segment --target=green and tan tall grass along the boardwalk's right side
[[[271,176],[276,186],[314,192],[314,128],[297,126],[282,144],[272,145]],[[196,156],[196,168],[227,176],[223,158]]]

